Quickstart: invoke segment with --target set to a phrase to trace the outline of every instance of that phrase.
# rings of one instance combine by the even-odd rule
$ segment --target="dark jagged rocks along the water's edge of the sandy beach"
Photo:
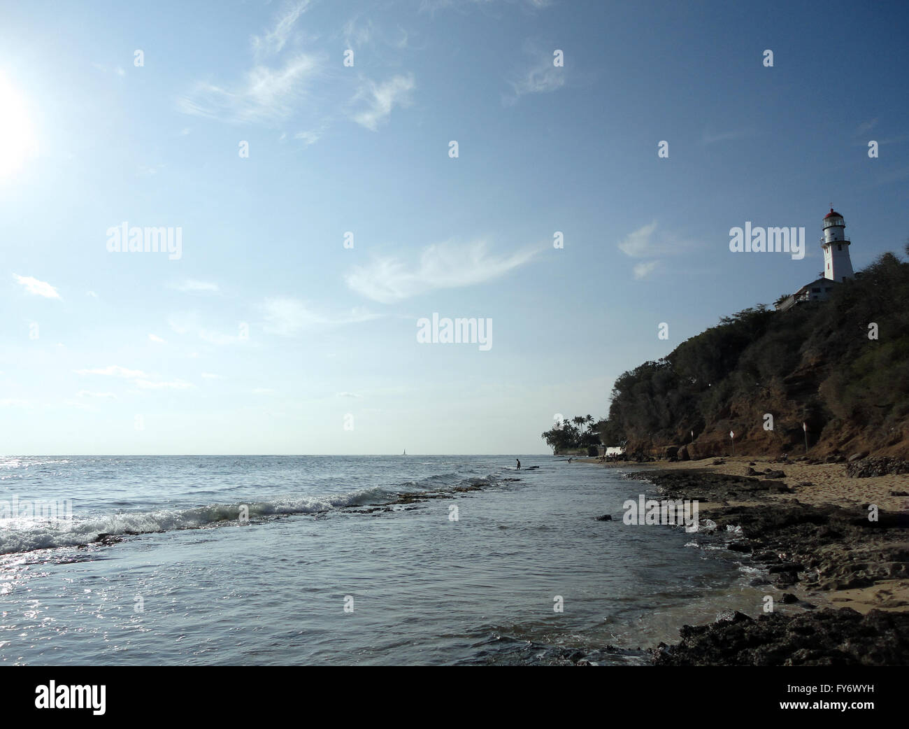
[[[650,481],[666,498],[697,500],[702,520],[714,522],[718,533],[741,527],[741,534],[728,532],[736,536],[727,546],[764,566],[762,582],[828,604],[837,591],[880,585],[887,608],[867,614],[849,607],[813,610],[814,604],[783,593],[775,599],[801,602],[808,612],[756,619],[736,613],[714,624],[685,625],[680,643],[652,651],[654,664],[909,664],[909,612],[890,612],[909,610],[909,601],[899,595],[888,600],[883,584],[909,578],[909,514],[876,504],[803,504],[774,478],[695,469],[629,477]]]

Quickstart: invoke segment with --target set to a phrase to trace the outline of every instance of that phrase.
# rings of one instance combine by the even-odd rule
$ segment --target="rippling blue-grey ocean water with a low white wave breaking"
[[[722,534],[623,523],[648,484],[520,458],[2,457],[0,664],[647,664],[760,611]]]

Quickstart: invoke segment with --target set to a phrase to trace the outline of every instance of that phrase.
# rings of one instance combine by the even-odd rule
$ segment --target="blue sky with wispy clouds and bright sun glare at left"
[[[856,270],[907,237],[904,3],[0,18],[2,454],[546,453],[814,280],[831,205]]]

